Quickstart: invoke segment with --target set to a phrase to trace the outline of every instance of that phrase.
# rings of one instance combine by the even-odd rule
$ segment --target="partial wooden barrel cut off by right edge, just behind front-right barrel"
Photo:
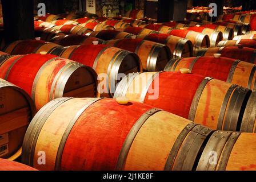
[[[243,114],[241,131],[256,133],[256,89],[253,90]]]

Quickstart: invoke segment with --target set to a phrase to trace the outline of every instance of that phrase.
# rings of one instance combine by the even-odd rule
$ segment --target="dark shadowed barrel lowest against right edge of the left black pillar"
[[[54,28],[35,27],[35,37],[49,42],[54,36],[66,35],[63,31],[55,30]]]

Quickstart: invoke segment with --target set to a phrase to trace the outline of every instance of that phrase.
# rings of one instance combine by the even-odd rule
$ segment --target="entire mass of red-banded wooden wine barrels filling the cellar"
[[[0,52],[0,170],[256,170],[253,15],[35,20]]]

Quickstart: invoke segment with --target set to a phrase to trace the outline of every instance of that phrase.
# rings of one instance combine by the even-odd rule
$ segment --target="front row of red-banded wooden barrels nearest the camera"
[[[6,100],[13,96],[27,98],[17,92]],[[49,102],[32,119],[22,163],[39,170],[255,170],[254,142],[255,134],[215,131],[135,101],[69,97]],[[40,151],[47,154],[45,165],[38,163]],[[210,163],[209,152],[215,152],[216,163]],[[0,164],[1,170],[34,170],[3,159]]]

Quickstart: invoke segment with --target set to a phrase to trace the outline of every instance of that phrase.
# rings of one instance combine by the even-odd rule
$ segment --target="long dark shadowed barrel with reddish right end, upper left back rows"
[[[94,41],[98,41],[99,44],[103,44],[104,40],[89,37],[86,35],[59,35],[51,39],[51,42],[59,44],[61,46],[73,46],[79,44],[93,44]]]

